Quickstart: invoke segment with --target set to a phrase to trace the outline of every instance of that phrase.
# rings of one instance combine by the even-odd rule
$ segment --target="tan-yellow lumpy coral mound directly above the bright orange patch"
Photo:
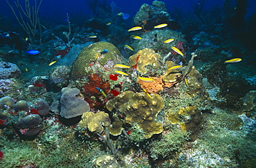
[[[147,66],[150,66],[150,70],[161,68],[161,56],[151,48],[144,48],[129,57],[129,64],[130,66],[137,66],[137,71],[145,74],[147,73]]]

